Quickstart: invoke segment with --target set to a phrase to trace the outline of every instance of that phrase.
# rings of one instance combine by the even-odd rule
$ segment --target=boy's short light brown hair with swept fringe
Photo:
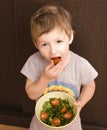
[[[31,17],[31,36],[37,46],[37,39],[44,33],[48,33],[55,26],[60,27],[68,37],[71,37],[71,15],[62,7],[46,5],[37,10]]]

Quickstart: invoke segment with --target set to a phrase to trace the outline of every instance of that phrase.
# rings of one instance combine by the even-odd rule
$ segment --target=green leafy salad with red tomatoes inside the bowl
[[[73,117],[73,105],[71,106],[67,99],[61,98],[49,98],[40,112],[41,121],[55,127],[70,123]]]

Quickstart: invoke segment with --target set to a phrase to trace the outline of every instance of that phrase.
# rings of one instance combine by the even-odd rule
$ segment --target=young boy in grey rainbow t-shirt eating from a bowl
[[[98,73],[86,59],[70,51],[74,36],[71,24],[69,12],[61,7],[47,5],[34,13],[31,35],[39,51],[28,58],[21,73],[27,77],[25,90],[30,99],[37,100],[50,90],[59,91],[61,86],[64,92],[72,93],[80,111],[95,92]],[[54,64],[58,58],[59,62]],[[34,116],[30,130],[49,128]],[[82,130],[80,117],[63,130]]]

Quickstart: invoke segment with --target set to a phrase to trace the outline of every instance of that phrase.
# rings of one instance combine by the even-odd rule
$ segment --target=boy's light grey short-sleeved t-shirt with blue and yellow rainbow
[[[57,79],[50,81],[44,93],[61,90],[68,92],[74,96],[74,98],[78,98],[81,86],[93,81],[97,77],[97,71],[86,59],[73,52],[71,53],[72,57],[69,64]],[[40,77],[47,64],[48,62],[41,56],[41,54],[36,52],[28,58],[21,73],[34,82]],[[30,130],[49,130],[49,128],[44,128],[42,124],[37,122],[38,120],[34,116]],[[63,130],[71,130],[71,128],[72,130],[81,130],[80,118],[78,118],[74,124],[71,124]]]

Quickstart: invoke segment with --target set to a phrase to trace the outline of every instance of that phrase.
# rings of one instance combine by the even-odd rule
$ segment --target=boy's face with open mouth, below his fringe
[[[71,35],[71,39],[72,39]],[[55,27],[49,33],[41,35],[37,40],[38,49],[41,55],[47,60],[61,57],[64,61],[69,54],[69,44],[72,42],[65,31]]]

